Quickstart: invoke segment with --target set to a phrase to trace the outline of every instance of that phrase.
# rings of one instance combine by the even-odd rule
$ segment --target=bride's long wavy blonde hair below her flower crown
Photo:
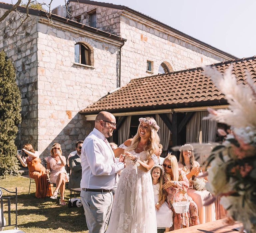
[[[156,121],[153,117],[145,117],[145,119],[151,120],[154,123],[156,123]],[[140,133],[139,133],[140,125],[141,125],[141,122],[139,124],[137,133],[135,134],[135,136],[132,139],[131,145],[126,148],[126,151],[131,151],[131,150],[135,151],[136,150],[137,145],[140,141]],[[160,142],[160,138],[156,132],[156,128],[151,125],[148,125],[148,126],[151,130],[151,135],[149,137],[149,144],[143,148],[146,151],[146,155],[147,155],[146,160],[148,160],[154,154],[154,152],[158,149],[158,144]],[[147,148],[147,150],[146,150],[146,148]]]

